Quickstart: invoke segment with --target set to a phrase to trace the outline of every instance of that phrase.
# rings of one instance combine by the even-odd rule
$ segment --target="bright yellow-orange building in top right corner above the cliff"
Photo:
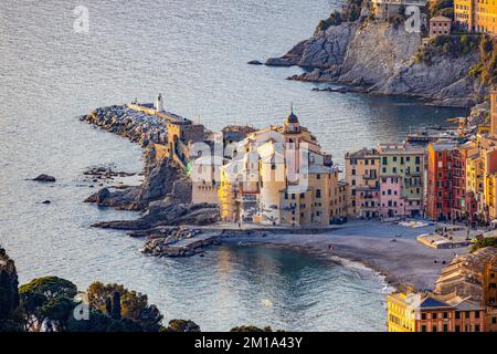
[[[454,22],[470,32],[497,33],[495,0],[454,0]]]

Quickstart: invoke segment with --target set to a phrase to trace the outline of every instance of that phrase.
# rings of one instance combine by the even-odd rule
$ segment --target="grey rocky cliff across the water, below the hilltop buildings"
[[[479,61],[477,45],[457,49],[447,50],[440,41],[422,44],[421,33],[409,33],[403,23],[368,18],[316,31],[266,65],[307,70],[293,80],[336,82],[374,94],[414,95],[436,105],[466,107],[480,102],[486,87],[468,75]],[[430,60],[420,60],[426,52]]]

